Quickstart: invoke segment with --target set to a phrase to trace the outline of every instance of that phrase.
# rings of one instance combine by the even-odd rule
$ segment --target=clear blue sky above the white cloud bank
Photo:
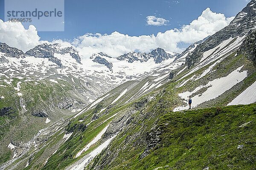
[[[0,18],[3,19],[3,0]],[[213,12],[235,16],[246,0],[65,0],[65,31],[40,31],[41,40],[73,40],[85,33],[130,36],[150,35],[180,28],[200,16],[207,7]],[[166,26],[146,25],[147,16],[169,20]]]

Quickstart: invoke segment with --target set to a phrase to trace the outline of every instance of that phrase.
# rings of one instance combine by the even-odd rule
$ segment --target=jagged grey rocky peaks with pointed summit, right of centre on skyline
[[[140,62],[147,62],[148,59],[154,58],[155,63],[161,63],[163,60],[174,58],[177,54],[174,53],[168,54],[166,51],[164,51],[162,48],[157,48],[150,53],[139,53],[139,52],[130,52],[127,54],[124,54],[122,56],[117,57],[118,60],[126,60],[130,63],[134,61],[140,61]]]

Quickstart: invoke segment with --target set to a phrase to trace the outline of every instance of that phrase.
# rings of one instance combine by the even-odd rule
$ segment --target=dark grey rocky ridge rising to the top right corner
[[[196,65],[203,56],[205,51],[219,45],[222,41],[230,37],[244,36],[250,30],[255,30],[256,26],[256,0],[250,1],[247,6],[239,12],[229,26],[218,31],[209,37],[204,43],[198,45],[193,53],[186,57],[186,65],[188,68]]]

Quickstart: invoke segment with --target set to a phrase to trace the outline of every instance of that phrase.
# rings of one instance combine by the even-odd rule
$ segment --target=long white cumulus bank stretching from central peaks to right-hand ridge
[[[85,34],[78,37],[73,44],[76,45],[81,54],[88,56],[96,52],[105,52],[117,57],[130,51],[149,52],[160,47],[166,51],[182,52],[179,43],[193,43],[204,39],[221,30],[234,19],[227,18],[224,14],[212,12],[210,8],[204,10],[196,20],[180,29],[171,29],[157,35],[129,36],[119,32],[112,34]]]

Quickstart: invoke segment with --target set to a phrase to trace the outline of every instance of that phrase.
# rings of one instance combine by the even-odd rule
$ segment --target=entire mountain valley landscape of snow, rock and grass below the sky
[[[256,0],[181,54],[0,43],[0,170],[253,170],[255,150]]]

